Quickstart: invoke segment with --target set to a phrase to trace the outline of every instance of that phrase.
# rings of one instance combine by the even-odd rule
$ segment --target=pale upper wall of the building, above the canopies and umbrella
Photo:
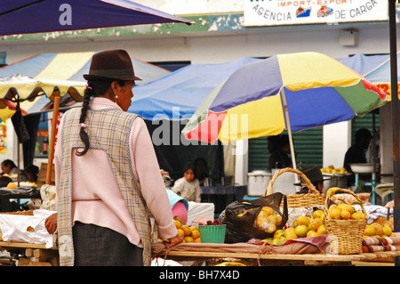
[[[123,48],[143,61],[191,61],[218,63],[243,56],[268,57],[277,53],[315,51],[334,58],[354,53],[389,53],[388,26],[359,28],[358,45],[339,44],[337,27],[263,28],[250,31],[202,33],[171,37],[131,37],[127,40],[49,40],[41,43],[0,42],[7,63],[20,61],[36,53],[70,53]],[[185,37],[183,37],[185,36]],[[188,37],[186,37],[188,36]]]

